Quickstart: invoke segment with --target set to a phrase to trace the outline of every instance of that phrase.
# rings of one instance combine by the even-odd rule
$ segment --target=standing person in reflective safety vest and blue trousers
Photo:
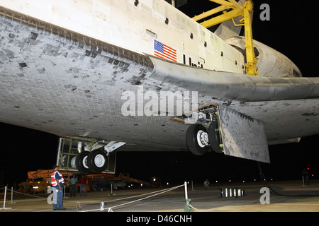
[[[53,166],[53,170],[54,171],[51,174],[51,184],[52,187],[56,189],[56,192],[53,192],[56,198],[53,198],[53,200],[57,200],[57,203],[53,202],[53,210],[66,210],[62,203],[63,186],[65,185],[65,179],[63,179],[62,174],[57,171],[59,170],[59,167],[57,165]]]

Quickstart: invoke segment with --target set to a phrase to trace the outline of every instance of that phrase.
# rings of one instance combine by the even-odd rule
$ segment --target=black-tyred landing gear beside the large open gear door
[[[216,107],[193,112],[192,118],[196,119],[196,123],[191,124],[186,132],[190,152],[194,155],[203,155],[211,150],[223,153]]]

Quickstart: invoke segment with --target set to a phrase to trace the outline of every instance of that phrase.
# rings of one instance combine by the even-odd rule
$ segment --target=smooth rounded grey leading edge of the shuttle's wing
[[[150,59],[155,68],[152,78],[221,100],[258,102],[319,97],[319,77],[266,78],[198,69],[155,57]]]

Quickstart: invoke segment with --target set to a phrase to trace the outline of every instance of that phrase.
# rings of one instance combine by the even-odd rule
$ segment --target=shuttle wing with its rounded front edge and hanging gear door
[[[180,66],[152,58],[152,78],[198,90],[220,106],[226,155],[270,162],[267,144],[319,133],[319,78],[266,78]]]

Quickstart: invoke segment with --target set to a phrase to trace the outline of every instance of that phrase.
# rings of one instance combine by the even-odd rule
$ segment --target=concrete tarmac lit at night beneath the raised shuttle
[[[195,212],[319,212],[319,181],[310,181],[310,185],[303,186],[302,181],[267,182],[270,189],[269,204],[267,194],[261,189],[262,182],[214,184],[205,190],[200,184],[191,188],[187,187],[188,198]],[[246,196],[220,198],[220,188],[241,188],[247,191]],[[103,211],[113,212],[184,212],[185,189],[167,191],[168,186],[159,188],[136,188],[113,191],[91,191],[87,196],[64,198],[67,210],[52,210],[52,205],[47,203],[47,198],[30,197],[16,199],[11,194],[6,198],[6,209],[1,212],[101,212],[101,202],[104,203]],[[276,194],[272,193],[272,190]],[[167,192],[164,192],[167,191]],[[155,194],[161,192],[157,196]],[[150,198],[145,198],[151,196]],[[0,208],[4,202],[1,195]]]

